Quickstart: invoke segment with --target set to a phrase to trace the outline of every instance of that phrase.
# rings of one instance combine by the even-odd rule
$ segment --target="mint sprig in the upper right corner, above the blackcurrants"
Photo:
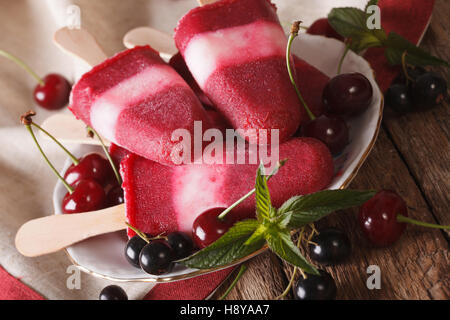
[[[378,1],[368,2],[365,11],[352,8],[334,8],[328,14],[328,22],[341,36],[347,39],[348,46],[356,53],[368,48],[384,48],[386,59],[391,65],[402,63],[401,57],[407,52],[406,62],[414,66],[449,66],[449,64],[437,57],[432,56],[423,49],[418,48],[404,37],[395,32],[386,32],[381,29],[369,29],[366,13],[368,6],[376,5]]]

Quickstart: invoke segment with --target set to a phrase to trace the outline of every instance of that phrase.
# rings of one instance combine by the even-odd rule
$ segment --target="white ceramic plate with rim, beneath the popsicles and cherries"
[[[336,74],[336,66],[343,50],[344,44],[342,42],[305,34],[302,34],[295,41],[293,47],[293,53],[330,77]],[[329,189],[345,188],[355,177],[376,140],[383,109],[382,94],[375,82],[369,64],[362,57],[353,52],[349,52],[343,64],[342,71],[344,73],[360,72],[364,74],[372,84],[374,95],[369,109],[364,114],[349,122],[351,141],[343,153],[334,159],[336,176]],[[77,156],[82,156],[89,152],[101,153],[101,149],[94,146],[80,146],[75,153]],[[70,159],[67,160],[63,172],[69,165]],[[53,195],[56,214],[61,214],[61,202],[65,193],[64,186],[58,182]],[[140,269],[132,267],[125,260],[124,247],[126,240],[125,231],[105,234],[77,243],[67,248],[67,253],[72,262],[83,271],[116,281],[169,282],[187,279],[217,270],[194,270],[177,266],[168,274],[151,276]],[[258,253],[262,251],[260,250]],[[246,257],[239,261],[239,263],[255,255]]]

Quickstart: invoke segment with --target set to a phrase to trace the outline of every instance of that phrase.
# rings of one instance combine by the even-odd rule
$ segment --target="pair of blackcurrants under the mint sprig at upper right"
[[[385,94],[386,105],[398,113],[426,111],[441,103],[447,82],[422,67],[407,67]]]

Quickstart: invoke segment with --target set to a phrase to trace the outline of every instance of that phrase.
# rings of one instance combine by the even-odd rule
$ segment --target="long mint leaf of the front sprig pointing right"
[[[359,206],[375,195],[375,191],[324,190],[305,196],[295,196],[278,209],[280,214],[291,213],[288,227],[300,228],[337,211]]]

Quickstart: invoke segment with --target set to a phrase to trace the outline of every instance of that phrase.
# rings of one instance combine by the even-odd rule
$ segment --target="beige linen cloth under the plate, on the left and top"
[[[306,25],[325,16],[333,4],[359,4],[356,0],[279,0],[283,25],[301,18]],[[52,35],[65,26],[67,7],[78,5],[81,25],[97,38],[108,55],[124,49],[122,37],[135,27],[149,25],[172,33],[176,21],[195,0],[0,0],[0,48],[26,61],[39,75],[61,73],[72,82],[88,69],[62,53]],[[56,178],[39,155],[31,137],[19,124],[19,116],[34,109],[40,123],[54,112],[35,105],[34,79],[12,62],[0,57],[0,265],[48,299],[97,299],[111,281],[81,273],[81,289],[66,287],[70,265],[64,252],[39,258],[25,258],[14,247],[18,228],[26,221],[53,213],[51,195]],[[68,112],[64,110],[62,112]],[[41,140],[57,168],[65,160],[54,144]],[[69,146],[70,147],[70,146]],[[149,284],[121,286],[131,299],[141,298]]]

